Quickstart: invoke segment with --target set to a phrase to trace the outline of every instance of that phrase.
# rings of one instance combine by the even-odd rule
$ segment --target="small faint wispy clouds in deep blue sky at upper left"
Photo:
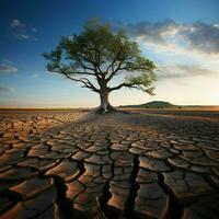
[[[12,35],[21,41],[37,41],[35,33],[38,32],[34,26],[22,23],[19,19],[13,19],[10,24]]]

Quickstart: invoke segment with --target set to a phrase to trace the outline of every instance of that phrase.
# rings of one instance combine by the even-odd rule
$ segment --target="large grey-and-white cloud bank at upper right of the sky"
[[[195,22],[180,24],[173,20],[158,23],[122,24],[131,36],[154,49],[176,53],[219,55],[219,25]]]

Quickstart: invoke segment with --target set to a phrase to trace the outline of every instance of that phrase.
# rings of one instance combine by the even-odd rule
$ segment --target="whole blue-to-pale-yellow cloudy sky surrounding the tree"
[[[46,71],[42,54],[93,16],[124,28],[158,67],[155,95],[123,89],[113,105],[219,105],[218,0],[1,0],[0,107],[97,106],[99,95]]]

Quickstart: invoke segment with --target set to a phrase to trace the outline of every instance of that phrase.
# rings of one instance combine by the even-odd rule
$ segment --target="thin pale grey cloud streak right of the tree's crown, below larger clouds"
[[[160,66],[155,72],[158,80],[180,79],[189,77],[209,77],[216,72],[197,65],[169,65]]]

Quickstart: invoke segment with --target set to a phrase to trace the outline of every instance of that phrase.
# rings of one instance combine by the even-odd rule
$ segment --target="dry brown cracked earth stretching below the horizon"
[[[0,218],[216,219],[219,113],[0,112]]]

